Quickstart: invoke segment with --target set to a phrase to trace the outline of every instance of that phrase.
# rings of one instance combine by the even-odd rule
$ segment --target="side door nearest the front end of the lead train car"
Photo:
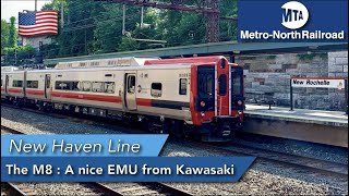
[[[125,86],[124,86],[124,101],[125,108],[128,110],[136,110],[137,105],[135,101],[135,83],[136,83],[136,74],[135,72],[125,73]]]

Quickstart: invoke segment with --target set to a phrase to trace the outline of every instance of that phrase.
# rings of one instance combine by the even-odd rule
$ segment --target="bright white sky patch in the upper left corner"
[[[37,10],[51,0],[37,0]],[[35,0],[1,0],[1,19],[10,22],[11,16],[19,17],[23,10],[35,10]],[[16,21],[17,22],[17,21]]]

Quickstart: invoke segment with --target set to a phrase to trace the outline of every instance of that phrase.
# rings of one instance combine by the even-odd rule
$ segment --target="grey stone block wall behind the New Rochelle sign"
[[[246,102],[276,100],[290,106],[290,77],[346,77],[348,52],[238,57],[244,65]],[[293,88],[296,108],[344,110],[344,89]]]

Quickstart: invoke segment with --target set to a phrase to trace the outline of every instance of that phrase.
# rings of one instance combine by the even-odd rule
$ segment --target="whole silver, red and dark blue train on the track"
[[[141,124],[152,133],[230,140],[243,127],[243,66],[224,56],[115,58],[1,71],[1,99]]]

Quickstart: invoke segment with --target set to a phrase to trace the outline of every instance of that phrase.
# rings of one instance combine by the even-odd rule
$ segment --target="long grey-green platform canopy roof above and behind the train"
[[[125,52],[101,53],[93,56],[80,56],[58,59],[45,59],[44,64],[57,64],[58,62],[83,61],[93,59],[110,59],[122,57],[192,57],[196,56],[246,56],[246,54],[277,54],[300,52],[326,52],[348,50],[348,42],[209,42],[149,50],[135,50]]]

